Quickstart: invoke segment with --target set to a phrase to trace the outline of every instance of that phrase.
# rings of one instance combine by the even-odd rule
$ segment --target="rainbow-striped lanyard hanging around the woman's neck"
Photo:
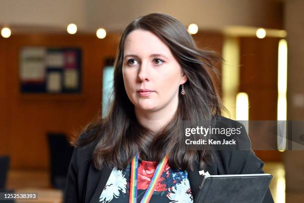
[[[161,162],[157,165],[151,183],[147,188],[147,191],[141,200],[141,203],[149,203],[154,189],[156,187],[157,181],[160,178],[164,167],[168,161],[168,156],[165,156]],[[131,162],[131,178],[130,178],[130,196],[129,196],[129,203],[137,203],[137,180],[138,180],[138,152],[136,153],[135,157],[132,159]]]

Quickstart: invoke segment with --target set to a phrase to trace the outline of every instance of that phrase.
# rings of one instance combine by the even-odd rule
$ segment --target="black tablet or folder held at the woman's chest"
[[[195,203],[261,203],[270,174],[205,176]]]

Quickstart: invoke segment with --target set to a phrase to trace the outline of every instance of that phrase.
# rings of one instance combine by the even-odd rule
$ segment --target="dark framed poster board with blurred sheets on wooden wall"
[[[80,93],[81,49],[23,47],[19,79],[21,93]]]

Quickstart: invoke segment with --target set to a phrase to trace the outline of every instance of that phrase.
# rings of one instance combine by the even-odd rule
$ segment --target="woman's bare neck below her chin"
[[[156,111],[144,111],[135,108],[135,115],[140,124],[156,133],[172,120],[176,113],[177,106],[178,103],[174,106],[164,107]]]

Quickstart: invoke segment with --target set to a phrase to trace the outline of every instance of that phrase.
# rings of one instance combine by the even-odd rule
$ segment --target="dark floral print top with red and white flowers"
[[[157,163],[139,160],[138,202],[151,182]],[[114,168],[100,194],[99,203],[128,203],[131,164],[124,170]],[[150,203],[193,203],[187,171],[171,169],[166,164],[153,192]]]

